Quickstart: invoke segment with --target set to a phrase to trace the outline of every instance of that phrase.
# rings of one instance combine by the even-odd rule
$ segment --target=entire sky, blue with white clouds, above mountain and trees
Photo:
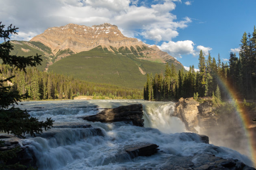
[[[226,62],[256,25],[256,0],[0,0],[0,6],[0,21],[20,28],[12,39],[30,40],[68,23],[108,22],[195,68],[200,49]]]

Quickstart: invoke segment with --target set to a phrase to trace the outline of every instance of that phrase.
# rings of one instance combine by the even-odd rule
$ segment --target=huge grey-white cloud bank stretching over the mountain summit
[[[125,36],[141,35],[156,42],[170,41],[178,36],[178,29],[188,26],[191,19],[177,20],[171,13],[180,0],[155,2],[147,6],[138,0],[8,0],[1,3],[0,15],[3,24],[13,23],[20,32],[28,34],[28,37],[19,34],[15,38],[26,40],[31,33],[41,34],[49,27],[68,23],[92,26],[108,22],[124,30]]]

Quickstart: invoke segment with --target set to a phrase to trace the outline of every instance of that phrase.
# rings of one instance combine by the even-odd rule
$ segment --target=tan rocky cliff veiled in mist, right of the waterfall
[[[252,131],[250,127],[241,123],[241,117],[235,110],[228,112],[230,108],[224,108],[219,113],[216,109],[219,108],[214,108],[210,100],[199,103],[193,98],[180,98],[174,116],[184,122],[188,131],[209,136],[210,143],[250,155],[245,132],[245,128]],[[250,135],[249,138],[255,138],[255,131]],[[256,148],[256,144],[252,144]]]

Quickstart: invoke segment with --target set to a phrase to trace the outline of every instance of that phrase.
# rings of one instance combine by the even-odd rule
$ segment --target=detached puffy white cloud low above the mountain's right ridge
[[[185,41],[169,41],[168,43],[163,43],[158,46],[159,49],[166,51],[169,55],[181,58],[181,55],[193,54],[194,53],[194,43],[191,40]]]

